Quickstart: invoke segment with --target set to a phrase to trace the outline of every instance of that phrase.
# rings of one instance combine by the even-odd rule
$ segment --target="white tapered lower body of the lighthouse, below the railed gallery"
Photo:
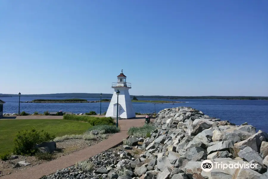
[[[113,97],[111,99],[111,102],[109,104],[108,110],[106,112],[105,117],[112,117],[116,118],[117,116],[117,95],[116,91],[119,89],[120,93],[118,96],[118,116],[121,119],[129,119],[129,118],[135,118],[135,112],[132,106],[132,101],[128,92],[128,88],[114,88],[115,91],[113,93]]]

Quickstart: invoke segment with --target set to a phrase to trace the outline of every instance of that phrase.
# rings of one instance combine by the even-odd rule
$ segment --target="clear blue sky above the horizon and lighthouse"
[[[268,1],[1,0],[0,93],[268,96]]]

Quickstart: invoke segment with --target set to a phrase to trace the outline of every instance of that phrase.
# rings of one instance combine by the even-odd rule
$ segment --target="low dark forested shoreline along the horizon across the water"
[[[102,98],[112,98],[113,94],[102,94]],[[18,97],[17,94],[0,94],[0,97]],[[42,97],[42,98],[100,98],[99,93],[56,93],[56,94],[39,94],[24,95],[21,97]],[[131,98],[134,95],[130,95]],[[267,96],[137,96],[136,98],[151,99],[226,99],[226,100],[268,100]]]

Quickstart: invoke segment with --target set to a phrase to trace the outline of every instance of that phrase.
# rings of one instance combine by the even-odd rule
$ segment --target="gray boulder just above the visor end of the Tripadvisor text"
[[[259,155],[256,151],[254,151],[250,147],[246,147],[243,150],[240,150],[238,152],[238,156],[240,158],[243,158],[244,160],[246,160],[248,162],[255,160],[259,163],[262,163],[262,161],[263,161],[263,158],[261,157],[261,155]]]

